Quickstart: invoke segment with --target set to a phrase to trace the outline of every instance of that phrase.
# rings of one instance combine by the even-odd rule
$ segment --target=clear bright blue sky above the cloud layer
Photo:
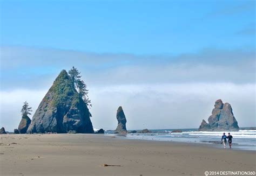
[[[1,1],[1,45],[97,53],[255,48],[255,1]]]

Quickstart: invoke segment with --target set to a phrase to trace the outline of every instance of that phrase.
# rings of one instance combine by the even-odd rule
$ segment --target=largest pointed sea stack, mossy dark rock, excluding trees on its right
[[[68,73],[60,72],[39,104],[27,133],[94,133],[90,112]]]

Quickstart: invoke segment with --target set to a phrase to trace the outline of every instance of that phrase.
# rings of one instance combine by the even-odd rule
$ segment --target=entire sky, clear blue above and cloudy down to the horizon
[[[127,129],[198,128],[219,98],[256,126],[255,39],[255,1],[2,0],[0,126],[72,66],[97,129],[116,128],[119,105]]]

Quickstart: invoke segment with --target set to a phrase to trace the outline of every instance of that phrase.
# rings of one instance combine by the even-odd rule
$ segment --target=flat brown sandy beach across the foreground
[[[204,175],[205,171],[256,170],[254,151],[199,144],[87,134],[0,138],[1,175]]]

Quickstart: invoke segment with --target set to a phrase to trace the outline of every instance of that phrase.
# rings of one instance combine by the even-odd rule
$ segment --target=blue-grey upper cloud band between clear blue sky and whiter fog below
[[[88,85],[172,82],[255,82],[255,52],[208,49],[197,54],[96,54],[1,47],[1,89],[38,89],[75,66]],[[36,82],[36,84],[35,84]]]

